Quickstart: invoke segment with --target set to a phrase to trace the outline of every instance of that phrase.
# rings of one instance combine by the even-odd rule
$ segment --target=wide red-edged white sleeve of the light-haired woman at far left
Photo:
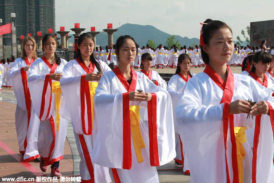
[[[21,59],[21,58],[20,58]],[[23,86],[23,82],[25,81],[26,72],[24,71],[24,67],[19,68],[19,60],[16,59],[12,68],[10,69],[10,80],[12,83],[12,88],[14,95],[16,96],[17,105],[26,110],[26,100],[25,100],[25,90]],[[24,80],[24,81],[23,81]],[[27,85],[25,85],[26,87]],[[27,89],[27,88],[26,88]]]

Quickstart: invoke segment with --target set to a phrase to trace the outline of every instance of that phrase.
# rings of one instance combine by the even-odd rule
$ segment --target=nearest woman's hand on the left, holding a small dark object
[[[245,100],[235,100],[233,102],[230,102],[229,105],[229,113],[230,114],[240,114],[240,113],[246,113],[248,114],[251,110],[252,105]]]

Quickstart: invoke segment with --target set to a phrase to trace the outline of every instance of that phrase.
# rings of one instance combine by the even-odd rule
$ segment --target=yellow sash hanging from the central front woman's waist
[[[141,163],[144,161],[141,149],[146,147],[146,145],[139,126],[139,120],[141,119],[139,109],[140,106],[129,106],[132,141],[138,163]]]

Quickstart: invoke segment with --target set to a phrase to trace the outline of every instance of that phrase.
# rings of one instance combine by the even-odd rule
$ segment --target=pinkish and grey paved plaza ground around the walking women
[[[153,70],[156,70],[158,73],[175,73],[175,69],[170,68],[153,68]],[[199,72],[202,72],[202,70],[203,68],[191,68],[190,71],[191,73],[197,74]],[[231,67],[231,70],[233,73],[239,74],[241,72],[241,67]],[[0,182],[3,182],[2,178],[24,177],[36,179],[36,177],[50,176],[50,167],[48,167],[46,173],[43,173],[40,171],[39,163],[36,163],[34,161],[31,161],[29,163],[23,162],[23,157],[21,156],[21,154],[19,154],[19,147],[16,136],[15,109],[16,98],[13,90],[10,88],[2,88],[2,92],[0,92]],[[77,151],[71,122],[69,122],[67,138],[65,141],[64,159],[60,161],[59,167],[61,174],[64,177],[78,177],[79,162],[80,157]],[[175,166],[174,161],[166,165],[157,167],[157,170],[161,183],[189,182],[190,180],[190,175],[185,175],[181,168]],[[69,180],[73,180],[73,178],[70,178]],[[9,182],[26,181],[20,180]],[[58,182],[61,182],[61,179],[59,179]]]

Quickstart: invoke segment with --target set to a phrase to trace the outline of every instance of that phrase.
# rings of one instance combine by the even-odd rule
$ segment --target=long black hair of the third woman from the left
[[[94,39],[92,37],[91,34],[89,33],[83,33],[79,36],[78,41],[77,41],[77,45],[81,45],[81,43],[86,39],[86,38],[90,38],[93,41],[94,44]],[[92,50],[93,51],[93,50]],[[75,54],[76,58],[79,58],[81,60],[81,62],[84,62],[82,57],[81,57],[81,52],[80,49],[77,49],[76,54]],[[104,74],[104,70],[99,62],[99,60],[96,59],[94,52],[92,52],[92,54],[90,55],[90,62],[93,63],[95,65],[95,67],[97,68],[98,72],[100,72],[100,74]]]

